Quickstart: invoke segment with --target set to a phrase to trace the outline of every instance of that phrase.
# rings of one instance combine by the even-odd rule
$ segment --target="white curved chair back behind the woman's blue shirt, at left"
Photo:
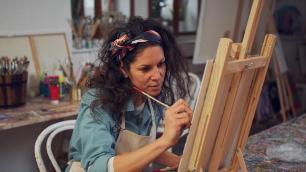
[[[44,129],[39,136],[36,139],[35,142],[35,148],[34,148],[34,152],[35,152],[35,159],[38,165],[38,168],[40,171],[47,171],[43,160],[42,160],[42,156],[41,156],[41,144],[42,141],[44,140],[44,138],[49,134],[49,137],[47,139],[47,144],[46,144],[46,148],[47,148],[47,154],[54,166],[54,168],[56,169],[57,172],[61,171],[58,163],[56,162],[54,155],[52,153],[51,150],[51,144],[52,144],[52,139],[55,137],[56,134],[64,131],[64,130],[72,130],[74,128],[74,124],[75,124],[75,120],[68,120],[68,121],[62,121],[62,122],[58,122],[55,123],[53,125],[50,125],[49,127],[47,127],[46,129]]]

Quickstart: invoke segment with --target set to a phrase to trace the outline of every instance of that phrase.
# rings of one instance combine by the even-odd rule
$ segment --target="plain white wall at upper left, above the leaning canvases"
[[[71,18],[70,0],[0,0],[0,4],[1,36],[64,32],[71,49],[71,29],[66,20]]]

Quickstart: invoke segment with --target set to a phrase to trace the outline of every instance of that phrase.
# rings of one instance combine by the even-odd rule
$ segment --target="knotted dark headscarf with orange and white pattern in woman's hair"
[[[134,49],[138,43],[153,41],[162,44],[161,36],[155,31],[144,32],[135,37],[134,39],[127,37],[127,35],[129,34],[129,30],[121,31],[118,34],[118,39],[108,45],[108,50],[112,53],[111,58],[116,58],[116,61],[118,63],[122,60],[123,56],[127,52]]]

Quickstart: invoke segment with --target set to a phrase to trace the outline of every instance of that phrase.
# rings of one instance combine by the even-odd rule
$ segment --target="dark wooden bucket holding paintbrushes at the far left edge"
[[[28,72],[0,77],[0,107],[23,105],[27,95]]]

